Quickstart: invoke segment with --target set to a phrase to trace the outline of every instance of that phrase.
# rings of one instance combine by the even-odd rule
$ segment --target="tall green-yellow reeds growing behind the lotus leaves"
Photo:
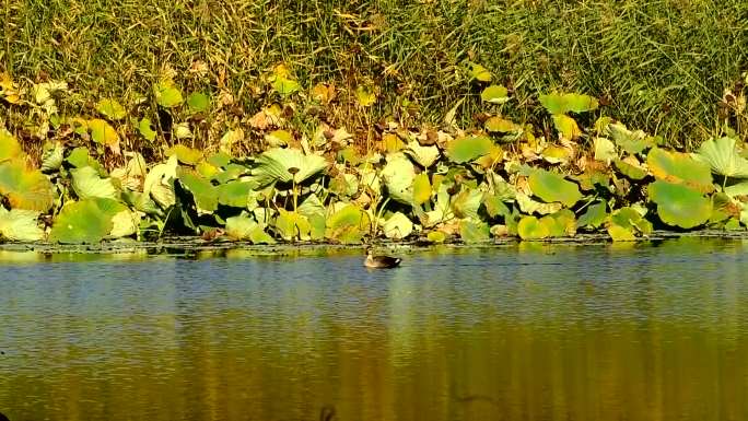
[[[514,90],[514,118],[537,119],[526,105],[539,93],[576,91],[692,148],[722,129],[723,91],[748,70],[745,0],[0,2],[0,67],[15,78],[46,73],[91,98],[133,102],[168,66],[187,90],[230,92],[252,115],[266,101],[262,75],[284,62],[304,87],[335,82],[339,105],[325,118],[364,133],[388,115],[439,124],[463,97],[461,124],[475,124],[478,90],[460,71],[474,60]],[[200,62],[207,74],[190,71]],[[362,114],[351,93],[367,82],[382,97]]]

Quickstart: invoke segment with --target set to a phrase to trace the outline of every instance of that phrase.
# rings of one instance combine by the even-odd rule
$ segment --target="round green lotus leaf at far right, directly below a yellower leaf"
[[[648,186],[650,199],[657,203],[659,219],[668,225],[692,229],[712,214],[712,202],[685,185],[656,180]]]

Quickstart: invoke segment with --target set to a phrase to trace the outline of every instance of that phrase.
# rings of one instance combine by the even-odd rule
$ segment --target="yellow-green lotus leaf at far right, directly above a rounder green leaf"
[[[646,156],[646,164],[659,180],[682,184],[701,192],[714,190],[709,164],[697,161],[687,153],[653,148]]]

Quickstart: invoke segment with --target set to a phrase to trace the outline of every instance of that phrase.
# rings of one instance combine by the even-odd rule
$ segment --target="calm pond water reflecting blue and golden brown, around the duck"
[[[748,243],[295,257],[0,253],[36,420],[746,420]]]

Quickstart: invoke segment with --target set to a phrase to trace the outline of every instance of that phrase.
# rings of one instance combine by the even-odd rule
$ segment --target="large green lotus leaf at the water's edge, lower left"
[[[55,219],[49,241],[63,244],[98,243],[112,232],[113,218],[125,210],[125,204],[112,199],[89,198],[68,202]]]

